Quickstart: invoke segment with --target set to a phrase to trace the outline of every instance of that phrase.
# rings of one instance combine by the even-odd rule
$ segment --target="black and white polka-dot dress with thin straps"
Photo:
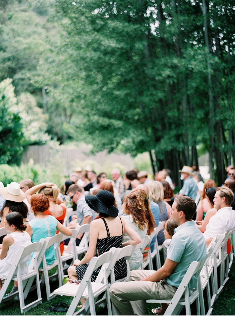
[[[122,235],[110,237],[108,225],[104,218],[102,218],[102,220],[104,221],[108,237],[97,239],[96,247],[98,248],[99,255],[102,255],[102,253],[109,251],[112,247],[122,248],[123,226],[122,226]],[[121,218],[120,218],[120,221],[121,221]],[[122,225],[122,222],[121,222],[121,225]],[[89,263],[90,262],[76,266],[76,273],[77,273],[78,280],[83,279],[83,276],[88,268]],[[91,282],[95,282],[96,277],[98,276],[100,272],[100,269],[101,269],[101,266],[92,273]],[[127,262],[126,262],[125,257],[121,258],[115,263],[114,275],[115,275],[115,280],[119,280],[127,276]],[[108,278],[108,281],[110,281],[110,276]]]

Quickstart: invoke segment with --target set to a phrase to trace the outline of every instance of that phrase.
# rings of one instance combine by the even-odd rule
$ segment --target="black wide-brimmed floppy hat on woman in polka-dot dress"
[[[112,217],[118,216],[118,208],[114,206],[115,197],[107,190],[102,190],[96,195],[85,195],[85,201],[96,213],[105,213]]]

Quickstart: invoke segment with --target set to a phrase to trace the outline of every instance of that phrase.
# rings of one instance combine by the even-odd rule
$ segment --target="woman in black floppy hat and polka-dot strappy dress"
[[[81,280],[87,270],[91,258],[94,257],[96,247],[98,248],[99,255],[107,252],[112,247],[121,248],[127,245],[136,245],[141,242],[141,238],[134,231],[133,228],[120,216],[118,216],[118,209],[114,206],[114,195],[106,190],[102,190],[97,195],[85,196],[86,203],[96,213],[99,213],[90,224],[90,243],[89,249],[80,260],[75,260],[73,266],[68,268],[68,275],[70,279]],[[131,237],[125,243],[122,243],[123,233]],[[91,281],[94,282],[100,271],[101,267],[96,269],[92,276]],[[127,264],[125,258],[118,260],[114,266],[115,280],[127,276]],[[81,299],[82,305],[85,300]]]

